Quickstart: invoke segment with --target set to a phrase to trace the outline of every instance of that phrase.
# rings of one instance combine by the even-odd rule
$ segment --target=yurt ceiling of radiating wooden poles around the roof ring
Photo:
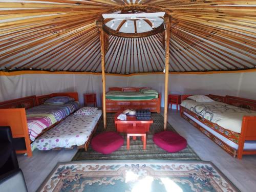
[[[109,9],[135,4],[172,16],[170,71],[255,68],[256,1],[1,0],[1,70],[100,72],[96,20]],[[110,36],[106,72],[163,71],[161,39]]]

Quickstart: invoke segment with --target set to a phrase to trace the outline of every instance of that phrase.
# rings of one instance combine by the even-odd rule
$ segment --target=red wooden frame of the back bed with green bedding
[[[113,87],[109,88],[109,91],[132,91],[137,92],[141,89],[151,89],[147,87],[142,88],[119,88],[119,87]],[[106,99],[106,113],[116,113],[118,111],[123,111],[126,109],[134,109],[134,110],[150,110],[151,112],[157,112],[160,113],[160,107],[161,107],[161,95],[158,94],[158,98],[151,99],[151,100],[140,100],[140,101],[114,101],[111,99]]]

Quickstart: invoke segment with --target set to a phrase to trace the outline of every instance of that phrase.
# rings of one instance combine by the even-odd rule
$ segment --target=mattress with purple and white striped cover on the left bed
[[[64,119],[79,108],[79,103],[71,101],[63,105],[41,104],[26,110],[29,137],[31,141],[47,127]]]

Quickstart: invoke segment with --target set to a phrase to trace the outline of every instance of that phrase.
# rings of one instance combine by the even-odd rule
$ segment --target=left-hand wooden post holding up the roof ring
[[[101,50],[101,73],[102,73],[102,109],[103,109],[103,124],[106,129],[106,83],[105,83],[105,38],[102,29],[102,22],[97,22],[100,32],[100,50]]]

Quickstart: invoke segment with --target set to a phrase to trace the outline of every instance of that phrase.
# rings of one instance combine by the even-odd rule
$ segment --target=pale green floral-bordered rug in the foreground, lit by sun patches
[[[59,163],[38,191],[239,191],[211,162],[167,160]]]

